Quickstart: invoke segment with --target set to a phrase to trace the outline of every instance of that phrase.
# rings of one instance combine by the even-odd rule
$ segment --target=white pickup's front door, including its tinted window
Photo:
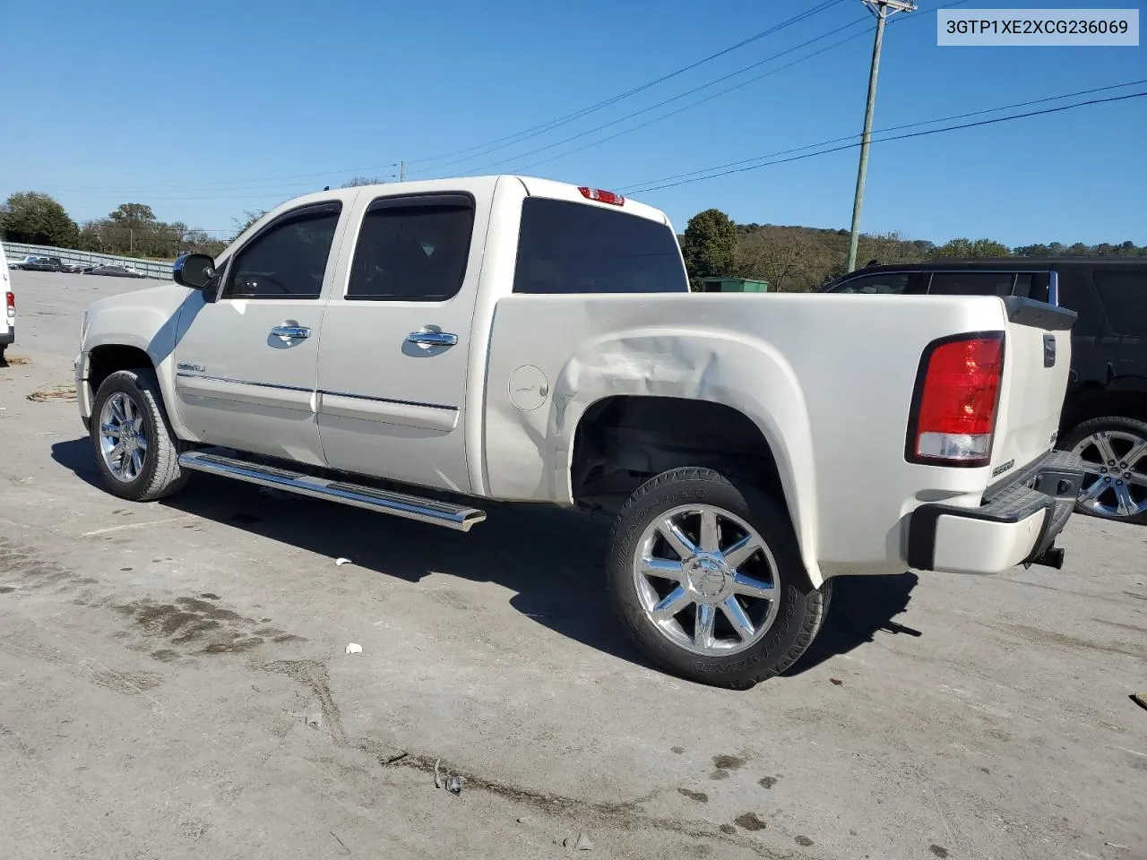
[[[342,204],[284,212],[223,264],[216,302],[179,320],[175,393],[204,443],[321,466],[315,373]]]

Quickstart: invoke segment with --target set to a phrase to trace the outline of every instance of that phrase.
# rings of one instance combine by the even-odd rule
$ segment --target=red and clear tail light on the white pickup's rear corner
[[[929,344],[916,374],[905,459],[933,466],[986,466],[1002,375],[1002,331]]]

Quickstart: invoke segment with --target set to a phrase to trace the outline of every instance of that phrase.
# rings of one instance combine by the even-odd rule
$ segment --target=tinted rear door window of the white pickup
[[[380,198],[362,218],[346,298],[444,302],[466,277],[474,200],[463,194]]]

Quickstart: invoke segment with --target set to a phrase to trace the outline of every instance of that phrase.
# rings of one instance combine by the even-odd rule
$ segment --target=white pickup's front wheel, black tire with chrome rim
[[[119,419],[118,413],[125,417]],[[131,425],[125,427],[127,423]],[[108,427],[119,429],[111,433],[106,431]],[[136,444],[140,430],[142,447]],[[178,492],[187,483],[189,474],[179,467],[179,454],[185,446],[171,430],[159,383],[150,368],[117,370],[100,384],[88,432],[103,484],[112,495],[130,501],[155,501]],[[130,464],[125,466],[127,453],[118,458],[106,453],[117,439],[133,452]],[[134,452],[139,452],[138,458]]]

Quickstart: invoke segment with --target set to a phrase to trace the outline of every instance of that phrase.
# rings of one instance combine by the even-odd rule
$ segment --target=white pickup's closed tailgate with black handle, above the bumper
[[[1028,298],[1004,299],[1004,385],[992,445],[992,475],[1024,467],[1056,439],[1071,365],[1076,314]]]

